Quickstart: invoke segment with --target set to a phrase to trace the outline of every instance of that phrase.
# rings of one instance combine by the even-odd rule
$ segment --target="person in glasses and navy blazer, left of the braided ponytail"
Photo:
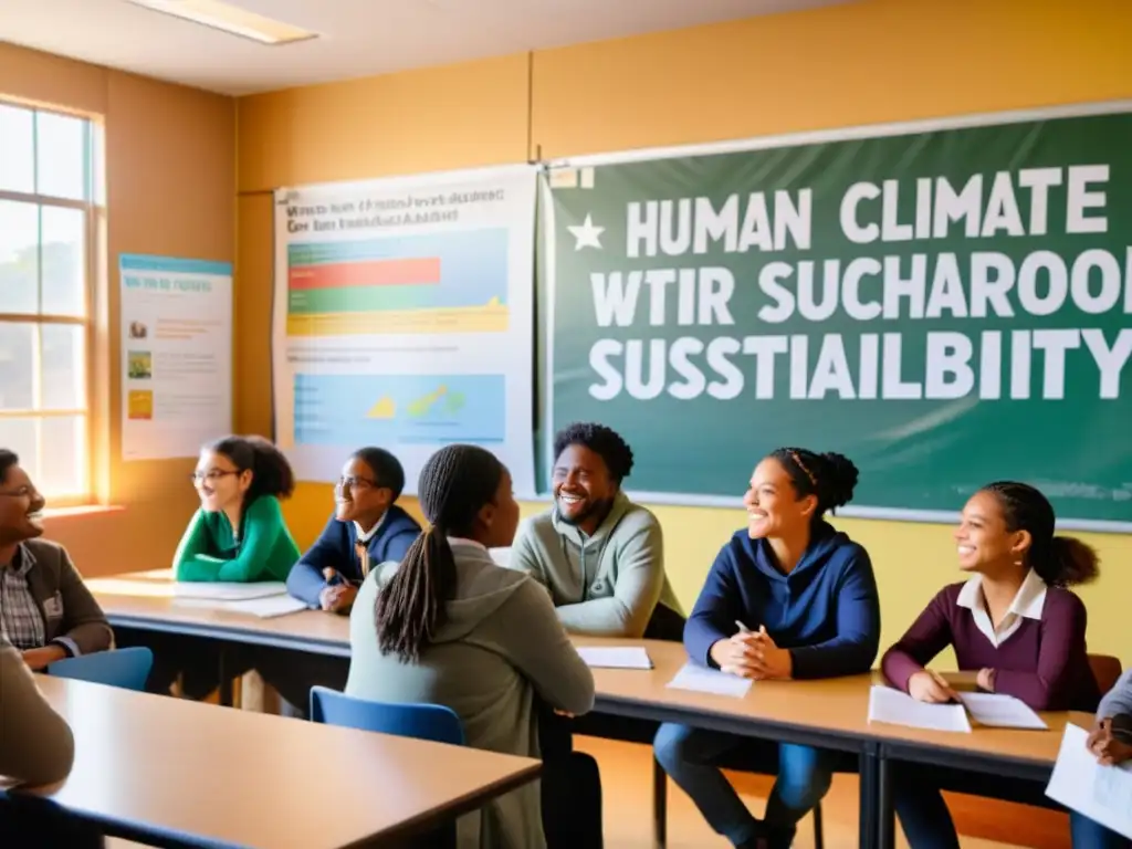
[[[417,521],[396,505],[404,486],[405,471],[393,454],[384,448],[355,451],[334,487],[334,515],[291,568],[288,592],[316,610],[348,615],[370,568],[400,563],[420,535]],[[348,658],[275,650],[261,654],[259,674],[278,691],[289,715],[306,715],[312,686],[345,687]]]

